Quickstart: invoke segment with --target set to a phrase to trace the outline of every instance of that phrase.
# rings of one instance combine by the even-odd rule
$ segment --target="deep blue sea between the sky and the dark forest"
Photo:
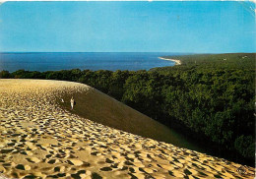
[[[134,52],[66,52],[66,53],[0,53],[0,71],[58,71],[70,69],[89,70],[150,70],[155,67],[173,66],[174,62],[160,60],[160,56],[181,53]]]

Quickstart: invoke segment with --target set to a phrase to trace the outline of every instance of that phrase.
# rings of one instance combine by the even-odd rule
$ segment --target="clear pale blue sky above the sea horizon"
[[[256,52],[252,2],[5,2],[1,52]]]

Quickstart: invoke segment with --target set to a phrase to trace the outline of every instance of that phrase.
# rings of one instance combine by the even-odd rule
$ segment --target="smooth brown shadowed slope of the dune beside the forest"
[[[76,99],[76,106],[71,111],[70,99],[72,96]],[[62,98],[64,102],[57,100],[59,106],[80,117],[178,147],[204,151],[158,121],[96,89],[90,88],[80,92],[64,91]]]

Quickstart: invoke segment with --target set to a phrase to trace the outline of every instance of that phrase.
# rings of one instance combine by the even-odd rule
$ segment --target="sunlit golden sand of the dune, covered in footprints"
[[[70,82],[0,80],[0,173],[8,178],[254,178],[255,168],[106,127],[56,102],[65,92],[90,90]]]

